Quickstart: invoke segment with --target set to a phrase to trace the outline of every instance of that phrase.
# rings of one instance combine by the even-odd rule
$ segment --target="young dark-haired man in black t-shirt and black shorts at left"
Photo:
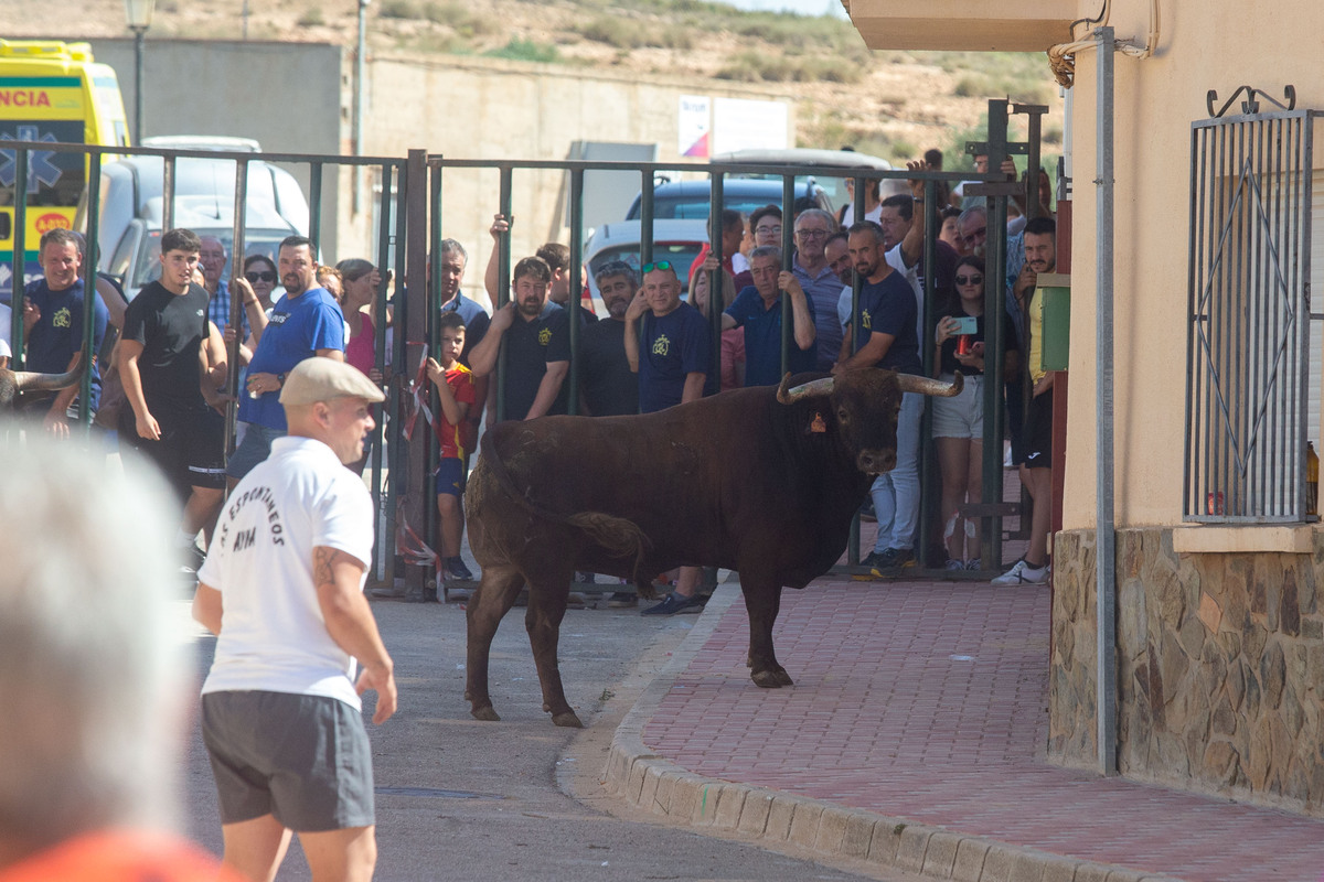
[[[225,422],[204,397],[204,380],[224,370],[211,364],[222,348],[207,290],[192,280],[200,247],[192,230],[162,235],[160,280],[124,311],[117,356],[131,407],[120,414],[119,436],[155,460],[184,500],[177,541],[192,558],[201,554],[197,532],[211,537],[225,493]]]

